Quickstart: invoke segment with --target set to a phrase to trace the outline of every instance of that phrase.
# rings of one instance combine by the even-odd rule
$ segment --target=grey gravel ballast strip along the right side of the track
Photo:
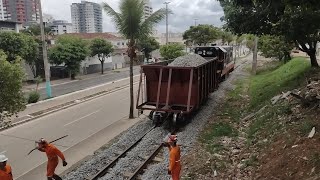
[[[235,78],[239,78],[244,75],[241,72],[241,69],[245,66],[245,64],[241,64],[238,69],[236,69],[230,77],[220,84],[220,87],[217,91],[209,96],[209,99],[205,105],[197,112],[197,114],[193,117],[192,122],[189,123],[185,129],[178,133],[178,144],[183,145],[181,147],[181,158],[186,155],[192,148],[192,144],[196,141],[199,132],[204,128],[208,118],[212,115],[215,107],[221,103],[224,99],[225,92],[227,90],[232,90],[234,85],[231,82]],[[164,161],[162,163],[154,164],[149,166],[148,169],[142,176],[142,180],[170,180],[170,176],[167,174],[168,168],[168,151],[163,153]]]

